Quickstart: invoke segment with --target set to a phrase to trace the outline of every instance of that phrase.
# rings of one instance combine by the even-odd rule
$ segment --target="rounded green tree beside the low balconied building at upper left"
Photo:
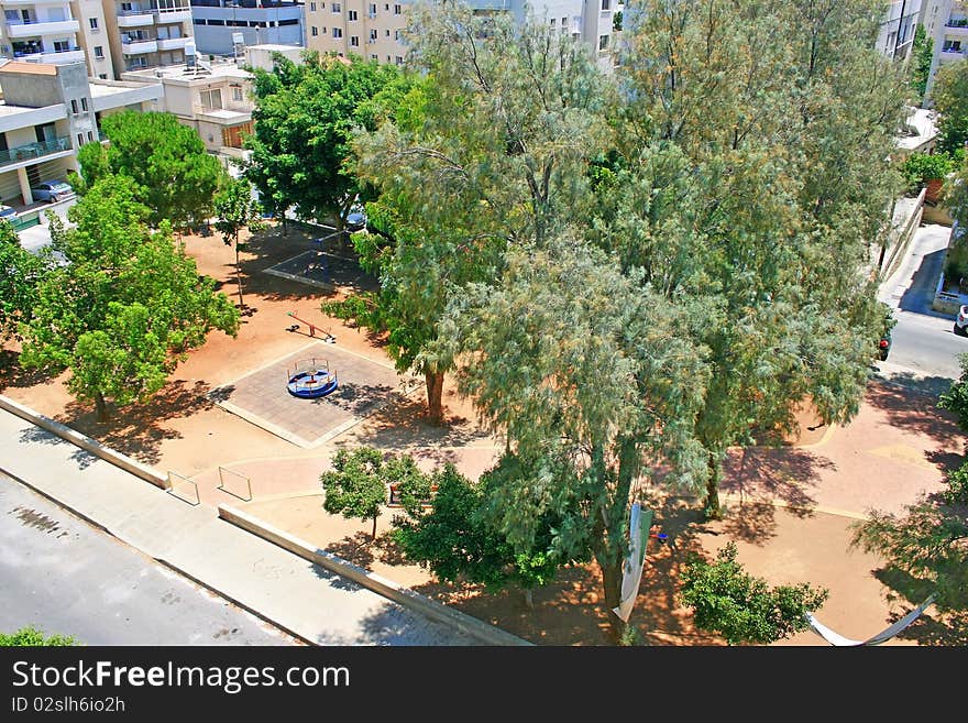
[[[106,174],[124,176],[134,198],[150,210],[147,222],[176,229],[207,221],[226,172],[206,153],[198,133],[172,113],[124,111],[106,117],[101,130],[110,143],[87,143],[78,152],[80,193]]]

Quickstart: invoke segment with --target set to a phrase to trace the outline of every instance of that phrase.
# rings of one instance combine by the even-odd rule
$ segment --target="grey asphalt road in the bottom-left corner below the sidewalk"
[[[293,639],[0,473],[0,631],[86,645]]]

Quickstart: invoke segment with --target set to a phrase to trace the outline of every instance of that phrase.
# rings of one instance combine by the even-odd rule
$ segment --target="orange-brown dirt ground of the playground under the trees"
[[[162,471],[173,471],[198,486],[205,505],[230,503],[255,514],[319,547],[363,565],[387,578],[447,602],[539,644],[609,644],[607,618],[598,599],[601,582],[594,566],[570,568],[559,580],[534,595],[534,609],[520,591],[485,594],[465,587],[438,583],[432,576],[400,558],[387,536],[394,511],[381,517],[376,543],[369,541],[369,524],[346,521],[322,510],[319,474],[328,469],[336,449],[358,443],[407,451],[427,469],[452,461],[476,478],[491,467],[502,449],[475,421],[470,403],[444,387],[447,424],[425,424],[420,385],[400,387],[382,405],[371,405],[366,417],[355,417],[338,434],[306,448],[287,441],[219,406],[219,387],[266,369],[298,352],[310,338],[306,324],[288,331],[288,313],[318,325],[336,337],[340,353],[374,364],[392,363],[380,339],[349,328],[319,310],[323,299],[346,285],[372,286],[372,280],[333,283],[337,291],[265,273],[308,250],[312,235],[299,229],[283,234],[271,228],[253,239],[243,259],[244,298],[251,314],[243,316],[238,338],[210,335],[201,349],[178,365],[168,385],[153,401],[112,409],[109,421],[95,420],[94,409],[76,403],[64,381],[23,372],[15,365],[15,346],[0,359],[0,392],[50,415],[106,445]],[[233,250],[218,235],[186,235],[186,249],[200,273],[221,282],[238,303]],[[340,253],[339,249],[327,249]],[[285,379],[276,392],[286,399]],[[811,582],[829,589],[817,614],[847,637],[880,632],[910,606],[892,599],[878,578],[880,560],[849,546],[851,525],[870,508],[899,512],[922,492],[941,488],[943,470],[960,460],[965,437],[953,420],[941,415],[928,397],[901,387],[872,383],[858,417],[847,427],[829,429],[803,415],[802,436],[780,449],[752,449],[732,454],[723,485],[726,516],[703,523],[695,501],[659,497],[651,501],[663,533],[675,549],[649,548],[640,595],[631,623],[641,640],[652,645],[721,645],[716,636],[697,632],[690,614],[675,600],[676,580],[689,551],[715,555],[729,540],[737,543],[739,560],[751,573],[771,583]],[[252,501],[219,490],[219,468],[230,474],[232,489]],[[945,642],[938,636],[933,610],[891,645]],[[812,632],[780,645],[825,645]]]

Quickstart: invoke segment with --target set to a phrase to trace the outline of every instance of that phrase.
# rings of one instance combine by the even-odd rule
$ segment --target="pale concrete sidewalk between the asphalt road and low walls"
[[[0,410],[0,469],[200,584],[319,645],[474,645]]]

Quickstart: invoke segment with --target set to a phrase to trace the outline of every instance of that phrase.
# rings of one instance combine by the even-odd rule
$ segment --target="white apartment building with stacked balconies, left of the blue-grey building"
[[[191,39],[188,0],[102,0],[116,78],[128,70],[185,62]]]

